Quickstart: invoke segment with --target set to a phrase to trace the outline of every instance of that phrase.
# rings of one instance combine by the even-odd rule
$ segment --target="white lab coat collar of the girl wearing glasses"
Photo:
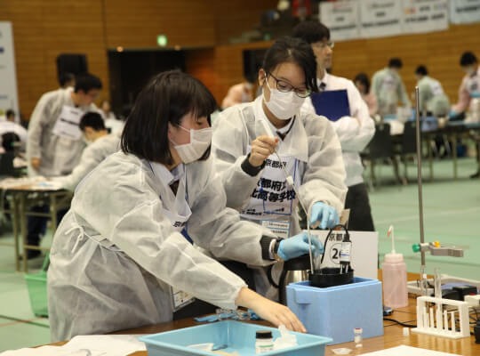
[[[303,126],[303,121],[300,117],[300,111],[290,120],[288,125],[277,130],[275,126],[270,123],[268,117],[263,111],[261,101],[262,96],[255,99],[253,103],[253,110],[255,113],[255,121],[267,120],[268,125],[274,129],[273,133],[278,137],[277,131],[281,134],[288,132],[283,141],[278,142],[277,152],[279,155],[292,156],[303,162],[308,162],[308,136]]]

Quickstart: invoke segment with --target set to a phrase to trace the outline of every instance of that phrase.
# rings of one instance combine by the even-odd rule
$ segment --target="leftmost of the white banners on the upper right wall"
[[[320,22],[330,28],[332,41],[360,37],[358,3],[356,0],[320,3]]]

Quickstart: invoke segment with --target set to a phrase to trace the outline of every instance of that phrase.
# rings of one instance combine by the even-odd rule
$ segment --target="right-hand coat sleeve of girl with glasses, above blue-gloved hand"
[[[300,197],[308,209],[323,201],[340,215],[347,194],[340,141],[326,117],[310,115],[305,129],[309,133],[308,164],[299,190]]]

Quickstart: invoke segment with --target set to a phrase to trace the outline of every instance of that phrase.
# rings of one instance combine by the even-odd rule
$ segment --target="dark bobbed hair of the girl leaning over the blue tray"
[[[171,165],[168,123],[178,126],[182,117],[208,117],[217,108],[212,93],[198,79],[169,70],[153,77],[139,93],[127,117],[122,150],[139,158]],[[200,159],[206,159],[210,149]]]

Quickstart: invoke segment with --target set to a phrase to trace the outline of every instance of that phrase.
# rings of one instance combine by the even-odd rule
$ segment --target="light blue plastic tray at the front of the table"
[[[192,328],[164,333],[141,336],[140,341],[147,345],[149,356],[178,356],[178,355],[212,355],[215,353],[189,349],[190,344],[226,344],[228,348],[222,352],[238,352],[241,356],[254,356],[255,333],[257,330],[271,330],[274,336],[280,336],[276,328],[262,325],[248,324],[240,321],[225,320],[212,324],[200,325]],[[297,346],[283,350],[265,352],[262,355],[289,355],[289,356],[323,356],[325,345],[332,341],[329,337],[293,333],[297,336]]]

